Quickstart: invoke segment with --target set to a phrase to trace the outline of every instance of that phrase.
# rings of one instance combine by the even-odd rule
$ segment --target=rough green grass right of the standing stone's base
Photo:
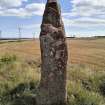
[[[68,69],[69,105],[105,105],[104,86],[105,72],[92,71],[84,65],[72,65]]]

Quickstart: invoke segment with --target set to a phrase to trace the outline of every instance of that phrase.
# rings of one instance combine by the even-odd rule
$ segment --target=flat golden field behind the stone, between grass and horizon
[[[105,39],[68,39],[68,51],[71,64],[105,69]],[[22,60],[40,60],[39,41],[1,43],[0,56],[4,54],[14,54]]]

